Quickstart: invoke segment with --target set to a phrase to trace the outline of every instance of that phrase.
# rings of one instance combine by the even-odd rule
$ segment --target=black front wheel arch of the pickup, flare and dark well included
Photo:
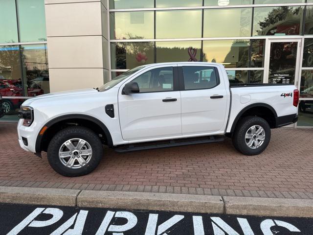
[[[71,114],[71,115],[64,115],[61,117],[54,118],[42,127],[47,127],[43,135],[40,133],[36,139],[36,152],[39,153],[41,151],[47,151],[49,142],[53,138],[53,136],[59,132],[60,130],[68,127],[68,126],[84,126],[89,128],[90,130],[94,131],[99,138],[102,139],[103,143],[112,146],[112,136],[110,134],[109,129],[106,125],[97,118],[91,117],[89,115],[83,114]]]

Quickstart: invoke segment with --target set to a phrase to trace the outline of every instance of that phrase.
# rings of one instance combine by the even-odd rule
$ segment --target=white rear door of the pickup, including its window
[[[218,67],[179,66],[179,83],[182,135],[223,134],[229,106]]]

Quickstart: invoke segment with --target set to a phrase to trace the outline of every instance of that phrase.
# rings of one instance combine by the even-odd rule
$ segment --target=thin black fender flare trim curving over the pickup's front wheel
[[[68,114],[68,115],[63,115],[63,116],[60,116],[60,117],[57,117],[57,118],[54,118],[48,122],[46,122],[43,127],[51,127],[52,125],[54,125],[55,123],[58,123],[60,121],[64,121],[64,120],[67,120],[67,119],[73,119],[73,118],[77,118],[77,119],[84,119],[84,120],[88,120],[88,121],[92,121],[93,123],[97,124],[98,126],[101,127],[102,131],[105,133],[106,135],[106,138],[107,138],[107,142],[108,142],[108,146],[113,146],[113,141],[112,141],[112,136],[110,134],[110,131],[109,129],[106,127],[106,125],[100,121],[98,118],[94,118],[94,117],[91,117],[89,115],[84,115],[84,114]],[[43,127],[40,129],[42,130]],[[43,141],[43,136],[37,135],[37,139],[36,139],[36,145],[35,145],[35,150],[36,150],[36,153],[39,153],[41,152],[41,143]]]

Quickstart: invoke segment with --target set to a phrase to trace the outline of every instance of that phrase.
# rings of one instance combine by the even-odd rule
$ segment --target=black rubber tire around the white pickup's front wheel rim
[[[82,139],[87,141],[92,149],[92,155],[89,162],[80,168],[69,168],[64,165],[59,158],[59,150],[61,146],[64,142],[71,139]],[[76,149],[74,151],[76,151]],[[103,146],[99,137],[90,129],[82,126],[71,126],[59,131],[52,138],[47,149],[47,158],[51,167],[59,174],[67,177],[76,177],[89,174],[100,163],[102,154]],[[75,160],[75,163],[78,163],[78,161]]]

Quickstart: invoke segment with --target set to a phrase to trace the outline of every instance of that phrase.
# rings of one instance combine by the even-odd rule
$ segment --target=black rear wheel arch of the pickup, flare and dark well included
[[[256,116],[256,117],[263,118],[268,122],[270,128],[276,127],[277,113],[275,109],[272,106],[265,104],[265,103],[255,103],[255,104],[246,106],[242,111],[239,112],[239,114],[237,115],[237,117],[235,118],[231,126],[231,130],[230,130],[231,134],[234,133],[235,128],[238,124],[238,121],[241,118],[244,118],[247,116]]]

